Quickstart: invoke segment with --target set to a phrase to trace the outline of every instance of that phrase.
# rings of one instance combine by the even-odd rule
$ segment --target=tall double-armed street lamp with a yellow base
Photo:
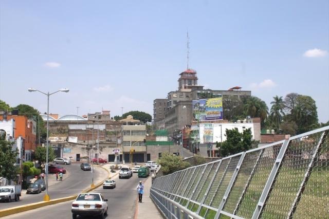
[[[46,195],[43,197],[43,200],[44,201],[49,201],[50,198],[49,198],[49,194],[48,194],[48,148],[49,148],[49,96],[50,95],[53,95],[53,94],[56,94],[58,92],[69,92],[69,89],[67,88],[62,88],[60,90],[57,90],[57,92],[53,92],[53,93],[44,93],[44,92],[41,92],[40,90],[38,89],[34,89],[34,88],[29,88],[28,89],[29,92],[40,92],[44,95],[47,95],[47,138],[46,138],[46,141],[47,141],[47,144],[46,144]]]

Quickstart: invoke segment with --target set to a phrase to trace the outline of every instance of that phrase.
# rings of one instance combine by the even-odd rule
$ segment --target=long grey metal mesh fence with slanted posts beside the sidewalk
[[[329,126],[156,178],[167,218],[329,218]]]

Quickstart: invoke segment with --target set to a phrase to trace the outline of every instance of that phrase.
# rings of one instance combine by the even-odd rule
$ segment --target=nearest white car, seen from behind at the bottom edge
[[[77,215],[98,215],[98,218],[104,218],[107,215],[107,199],[100,193],[80,193],[72,203],[72,218]]]

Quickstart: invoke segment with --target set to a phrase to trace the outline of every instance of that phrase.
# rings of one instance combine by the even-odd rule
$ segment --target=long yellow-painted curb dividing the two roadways
[[[100,187],[101,185],[103,185],[104,180],[111,178],[111,176],[109,175],[109,171],[106,168],[103,168],[103,167],[99,167],[99,168],[102,168],[107,171],[107,177],[105,179],[101,180],[98,184],[96,184],[94,188],[85,189],[82,192],[90,192],[90,191]],[[118,173],[116,173],[115,175],[117,175],[117,174]],[[62,202],[67,202],[69,200],[75,199],[76,197],[77,197],[77,195],[73,195],[73,196],[68,196],[68,197],[64,197],[64,198],[57,198],[57,199],[52,199],[49,201],[37,202],[37,203],[32,203],[32,204],[28,204],[28,205],[19,206],[19,207],[3,209],[3,210],[0,210],[0,217],[4,217],[4,216],[11,215],[11,214],[16,214],[16,213],[21,213],[24,211],[29,211],[29,210],[33,210],[36,208],[45,207],[48,205],[54,205],[54,204],[58,204],[58,203],[62,203]]]

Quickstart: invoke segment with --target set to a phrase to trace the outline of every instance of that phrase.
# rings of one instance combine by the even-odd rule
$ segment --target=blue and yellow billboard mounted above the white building
[[[193,100],[193,118],[199,121],[222,120],[223,98]]]

